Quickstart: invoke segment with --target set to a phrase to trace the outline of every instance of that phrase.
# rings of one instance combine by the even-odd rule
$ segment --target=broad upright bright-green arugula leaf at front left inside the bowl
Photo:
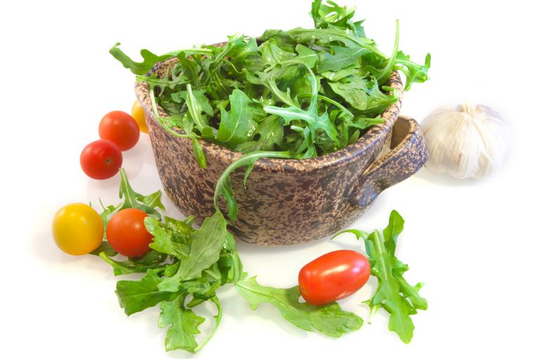
[[[252,101],[242,90],[233,90],[229,99],[230,111],[221,107],[217,140],[235,147],[252,137],[256,123],[253,121]]]

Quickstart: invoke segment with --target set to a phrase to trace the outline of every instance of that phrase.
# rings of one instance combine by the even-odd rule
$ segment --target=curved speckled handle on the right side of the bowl
[[[368,207],[380,192],[418,172],[429,158],[419,123],[408,116],[395,121],[390,148],[361,175],[355,196],[359,206]]]

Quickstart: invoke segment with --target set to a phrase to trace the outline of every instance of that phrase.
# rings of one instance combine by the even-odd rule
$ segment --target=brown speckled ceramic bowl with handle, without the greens
[[[152,71],[164,74],[173,62]],[[387,85],[402,94],[397,72]],[[145,111],[164,190],[178,210],[194,215],[200,224],[215,212],[215,182],[241,154],[200,140],[208,164],[206,169],[200,168],[191,141],[167,133],[155,119],[147,84],[136,84],[135,93]],[[417,172],[427,161],[427,148],[418,123],[399,117],[401,99],[382,114],[384,123],[373,126],[345,149],[304,160],[262,158],[255,163],[246,189],[244,169],[234,172],[232,186],[239,215],[229,229],[236,238],[260,245],[324,238],[352,224],[381,191]],[[167,116],[163,109],[158,111],[159,116]],[[391,149],[382,154],[387,141]],[[226,212],[224,203],[221,209]]]

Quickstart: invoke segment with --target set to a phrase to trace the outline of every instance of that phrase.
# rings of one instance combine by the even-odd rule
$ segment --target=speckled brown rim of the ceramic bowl
[[[213,46],[216,45],[221,45],[221,43],[214,44]],[[175,57],[165,60],[164,62],[159,62],[154,66],[152,72],[161,66],[168,65],[167,63],[171,60],[175,60]],[[349,144],[347,147],[339,149],[338,151],[312,158],[260,158],[255,162],[253,170],[266,170],[271,172],[305,172],[306,170],[323,170],[329,167],[340,167],[345,165],[345,163],[350,161],[350,159],[361,156],[361,154],[363,154],[366,150],[382,141],[383,135],[390,133],[395,121],[397,121],[397,118],[399,117],[402,104],[402,95],[404,91],[401,76],[397,71],[392,72],[389,79],[385,83],[385,86],[389,86],[394,91],[399,91],[399,100],[397,100],[397,102],[392,104],[390,107],[387,107],[387,109],[382,112],[381,117],[385,119],[384,122],[378,123],[369,128],[364,135],[358,138],[356,142]],[[164,128],[161,128],[159,121],[157,121],[157,118],[155,118],[152,105],[149,100],[149,86],[147,83],[143,81],[135,82],[135,94],[137,95],[138,101],[142,105],[145,113],[149,115],[149,118],[157,123],[160,130],[166,131]],[[164,118],[169,116],[166,111],[159,106],[159,104],[156,105],[159,116]],[[185,134],[185,132],[180,128],[175,128],[175,131],[179,134]],[[175,140],[189,141],[189,144],[191,142],[189,139],[181,137],[175,137]],[[233,161],[236,161],[237,158],[244,155],[241,152],[234,151],[222,146],[221,144],[210,142],[204,138],[199,138],[198,141],[202,149],[204,149],[204,154],[206,157],[210,155],[211,158],[217,159],[223,163],[232,163]],[[378,154],[375,154],[375,156],[376,155]]]

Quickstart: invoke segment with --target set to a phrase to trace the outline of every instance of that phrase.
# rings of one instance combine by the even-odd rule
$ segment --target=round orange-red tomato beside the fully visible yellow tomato
[[[139,257],[149,250],[154,236],[144,226],[148,215],[136,208],[114,214],[107,224],[107,240],[114,250],[126,257]]]

